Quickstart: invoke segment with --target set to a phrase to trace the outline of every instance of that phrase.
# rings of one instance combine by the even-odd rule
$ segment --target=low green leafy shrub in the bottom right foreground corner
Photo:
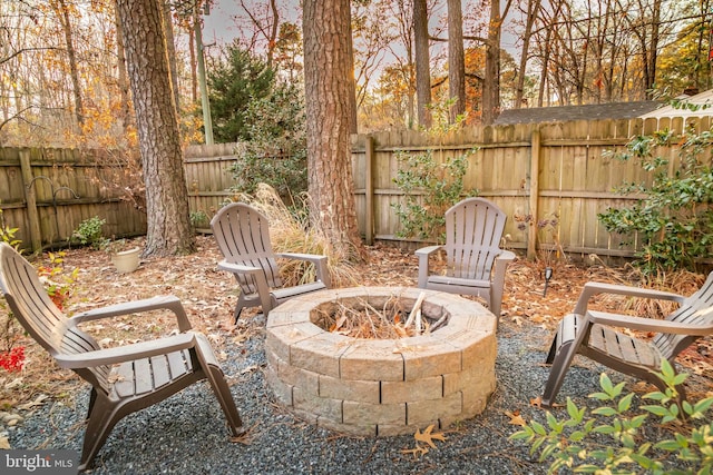
[[[622,395],[624,383],[614,386],[603,373],[602,392],[589,396],[602,403],[592,410],[596,417],[586,417],[587,409],[567,398],[568,418],[558,419],[548,412],[546,426],[533,420],[510,438],[525,441],[531,454],[539,451],[539,461],[549,462],[548,473],[566,468],[575,473],[710,474],[713,422],[706,413],[713,397],[696,404],[678,402],[676,386],[687,375],[676,374],[665,359],[657,376],[666,389],[644,395],[654,404],[639,406],[643,413],[633,407],[633,393]],[[643,439],[642,429],[652,423],[649,415],[660,417],[656,424],[664,428],[675,427],[671,438],[656,443]]]

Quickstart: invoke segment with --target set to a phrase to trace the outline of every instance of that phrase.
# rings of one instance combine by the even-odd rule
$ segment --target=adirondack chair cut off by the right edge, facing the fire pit
[[[597,294],[672,300],[681,305],[663,320],[587,310],[589,298]],[[639,339],[617,331],[617,327],[656,334],[649,340]],[[654,374],[661,372],[663,359],[674,366],[676,356],[705,335],[713,335],[713,273],[703,287],[690,297],[622,285],[587,283],[574,313],[563,318],[553,339],[547,355],[547,363],[553,366],[545,385],[543,405],[551,406],[555,402],[576,354],[647,380],[664,390],[665,384]],[[676,389],[683,400],[684,387]]]

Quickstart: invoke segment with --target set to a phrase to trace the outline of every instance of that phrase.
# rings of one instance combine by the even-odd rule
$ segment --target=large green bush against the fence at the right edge
[[[657,155],[677,147],[678,162]],[[701,258],[713,250],[713,169],[710,150],[713,133],[676,136],[668,130],[632,139],[626,151],[612,154],[622,160],[638,160],[652,174],[652,184],[624,184],[618,192],[642,192],[636,205],[609,208],[598,215],[611,232],[642,241],[635,264],[644,275],[688,269],[699,271]],[[663,147],[663,148],[662,148]],[[670,155],[670,154],[668,154]]]

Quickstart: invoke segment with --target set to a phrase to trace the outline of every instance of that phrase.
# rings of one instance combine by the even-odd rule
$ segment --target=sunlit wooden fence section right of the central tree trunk
[[[696,126],[707,130],[709,118],[701,118]],[[643,198],[615,189],[624,182],[649,185],[652,177],[638,164],[605,151],[623,150],[635,135],[666,128],[681,132],[682,127],[680,118],[477,127],[442,137],[438,144],[428,135],[409,131],[359,136],[352,154],[360,229],[368,243],[398,239],[393,205],[404,202],[394,186],[398,151],[430,150],[442,162],[476,148],[465,185],[507,214],[507,247],[525,249],[528,257],[538,251],[632,256],[639,245],[636,237],[623,245],[624,238],[606,231],[597,215]],[[658,151],[672,159],[673,172],[675,150]],[[549,225],[538,226],[544,222]]]

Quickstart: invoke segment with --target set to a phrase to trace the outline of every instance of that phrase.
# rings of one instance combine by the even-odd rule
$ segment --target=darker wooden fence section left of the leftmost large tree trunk
[[[146,214],[127,194],[125,162],[75,149],[0,148],[0,209],[25,248],[66,245],[88,218],[107,237],[146,234]],[[123,184],[127,184],[124,186]]]

